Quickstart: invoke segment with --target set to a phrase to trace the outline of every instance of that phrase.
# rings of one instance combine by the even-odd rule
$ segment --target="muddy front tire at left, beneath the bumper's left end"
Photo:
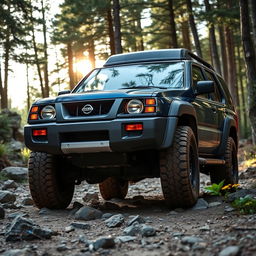
[[[74,182],[63,180],[55,156],[32,152],[28,164],[29,188],[38,208],[65,209],[74,193]]]

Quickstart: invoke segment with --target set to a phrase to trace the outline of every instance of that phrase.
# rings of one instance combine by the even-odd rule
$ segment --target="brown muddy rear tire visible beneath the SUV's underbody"
[[[99,183],[100,194],[105,200],[112,198],[124,199],[128,192],[128,186],[128,181],[116,177],[109,177]]]

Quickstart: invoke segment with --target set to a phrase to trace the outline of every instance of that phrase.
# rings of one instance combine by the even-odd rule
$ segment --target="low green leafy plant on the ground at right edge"
[[[255,214],[256,213],[256,199],[252,198],[250,195],[245,197],[240,197],[236,199],[232,206],[239,210],[241,214]]]

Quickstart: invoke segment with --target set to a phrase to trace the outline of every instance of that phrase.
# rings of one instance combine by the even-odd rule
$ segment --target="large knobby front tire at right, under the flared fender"
[[[191,207],[199,195],[197,142],[189,126],[179,126],[173,144],[160,152],[160,179],[170,208]]]

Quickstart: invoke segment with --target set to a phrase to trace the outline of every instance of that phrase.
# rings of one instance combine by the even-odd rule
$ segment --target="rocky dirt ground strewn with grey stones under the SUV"
[[[169,210],[159,179],[146,179],[130,185],[127,199],[105,202],[96,185],[83,183],[69,209],[53,211],[33,206],[21,182],[26,168],[17,169],[0,183],[1,255],[256,255],[256,215],[203,193],[207,176],[191,209]],[[254,186],[256,167],[240,178],[243,189]]]

